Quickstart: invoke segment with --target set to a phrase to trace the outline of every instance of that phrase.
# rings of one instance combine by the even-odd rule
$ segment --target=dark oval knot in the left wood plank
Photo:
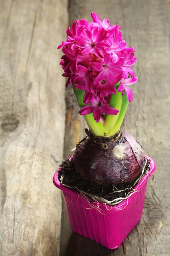
[[[19,124],[20,121],[17,119],[17,117],[8,116],[2,121],[1,128],[4,131],[12,132],[19,126]]]

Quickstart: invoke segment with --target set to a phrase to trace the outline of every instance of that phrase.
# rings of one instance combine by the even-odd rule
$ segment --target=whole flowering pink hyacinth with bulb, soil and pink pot
[[[127,47],[119,25],[91,16],[90,23],[74,21],[58,47],[66,87],[72,84],[89,129],[53,182],[63,192],[73,231],[114,249],[141,219],[147,180],[156,165],[121,130],[138,80],[131,68],[135,50]]]

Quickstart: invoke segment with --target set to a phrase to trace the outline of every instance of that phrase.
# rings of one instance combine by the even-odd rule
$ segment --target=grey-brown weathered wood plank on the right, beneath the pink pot
[[[120,248],[109,250],[95,242],[72,233],[67,213],[62,215],[60,256],[122,256],[169,255],[170,201],[170,2],[168,0],[71,0],[70,25],[78,18],[91,20],[94,11],[111,24],[122,26],[122,35],[129,46],[136,49],[138,58],[134,66],[139,82],[133,87],[134,101],[129,104],[122,126],[143,146],[145,153],[157,163],[153,180],[148,181],[142,220],[133,229]],[[66,92],[71,95],[71,89]],[[65,143],[68,153],[83,138],[85,123],[78,117],[76,101],[67,101],[71,112],[66,122]],[[68,120],[68,117],[67,117]],[[74,131],[78,137],[75,138]],[[65,155],[65,158],[67,155]],[[63,209],[65,207],[63,206]],[[67,248],[65,245],[68,245]]]

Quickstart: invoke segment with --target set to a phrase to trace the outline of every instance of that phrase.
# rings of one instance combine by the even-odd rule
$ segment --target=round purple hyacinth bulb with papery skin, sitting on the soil
[[[144,152],[139,142],[123,131],[111,138],[89,133],[77,144],[73,163],[76,171],[96,186],[131,184],[144,167]]]

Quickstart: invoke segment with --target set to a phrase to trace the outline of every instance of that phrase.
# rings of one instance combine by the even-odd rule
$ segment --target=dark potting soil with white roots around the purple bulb
[[[150,164],[147,160],[142,177],[149,169]],[[70,187],[70,189],[72,189],[73,191],[83,191],[86,196],[88,196],[88,194],[91,194],[100,198],[105,198],[108,201],[112,201],[116,198],[126,197],[127,193],[131,192],[136,185],[134,180],[131,184],[123,183],[119,186],[116,186],[116,188],[113,187],[112,184],[110,184],[109,186],[105,186],[104,184],[96,186],[92,183],[89,183],[89,181],[87,182],[85,179],[83,179],[83,177],[81,177],[81,175],[76,172],[73,161],[69,159],[66,159],[63,164],[61,164],[61,169],[59,170],[58,174],[60,182],[65,186]],[[139,177],[140,176],[141,174],[139,175]],[[137,177],[137,179],[139,177]],[[116,190],[118,190],[119,192],[116,193]]]

